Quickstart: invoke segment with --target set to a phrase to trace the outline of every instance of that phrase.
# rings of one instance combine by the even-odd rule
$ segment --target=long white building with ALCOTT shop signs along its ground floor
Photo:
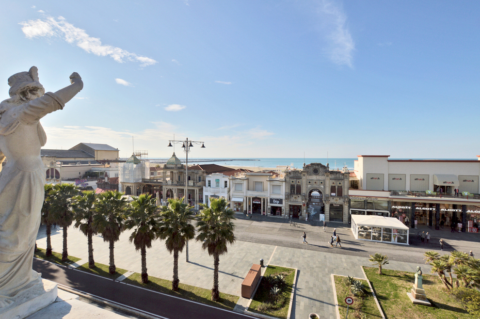
[[[355,161],[351,185],[358,189],[349,190],[351,215],[408,217],[411,227],[478,232],[480,160],[388,158],[362,155]]]

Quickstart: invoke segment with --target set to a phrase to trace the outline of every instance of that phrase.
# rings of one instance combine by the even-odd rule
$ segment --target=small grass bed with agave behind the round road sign
[[[366,280],[357,280],[368,287]],[[363,298],[354,296],[348,287],[347,277],[342,276],[335,276],[335,288],[340,318],[345,318],[347,315],[347,304],[345,303],[345,298],[347,297],[353,298],[353,304],[349,306],[348,310],[349,318],[360,318],[361,314],[366,315],[369,319],[382,318],[371,291]]]

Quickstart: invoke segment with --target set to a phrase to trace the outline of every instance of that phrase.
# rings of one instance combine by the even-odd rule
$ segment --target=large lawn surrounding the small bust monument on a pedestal
[[[383,275],[379,275],[378,268],[364,267],[364,270],[387,319],[475,318],[449,294],[437,275],[423,274],[423,288],[432,303],[429,307],[413,304],[407,296],[415,283],[415,273],[383,269]]]

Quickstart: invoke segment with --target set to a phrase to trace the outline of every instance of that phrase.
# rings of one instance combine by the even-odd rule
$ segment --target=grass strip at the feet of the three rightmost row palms
[[[239,296],[233,296],[221,292],[220,300],[217,302],[213,302],[211,301],[211,289],[189,286],[180,282],[180,284],[178,285],[178,290],[172,291],[172,281],[170,280],[160,279],[152,276],[148,276],[148,280],[149,282],[147,284],[142,284],[141,274],[138,272],[134,272],[132,275],[128,276],[128,278],[125,279],[123,282],[228,310],[233,310],[240,298]]]

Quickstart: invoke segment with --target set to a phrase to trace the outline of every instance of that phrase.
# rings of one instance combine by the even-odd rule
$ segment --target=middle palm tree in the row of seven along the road
[[[98,202],[95,210],[93,226],[103,236],[103,240],[109,243],[110,265],[108,271],[114,274],[116,267],[113,256],[115,241],[120,239],[124,230],[125,208],[127,200],[122,198],[123,193],[118,191],[106,191],[98,195]]]

